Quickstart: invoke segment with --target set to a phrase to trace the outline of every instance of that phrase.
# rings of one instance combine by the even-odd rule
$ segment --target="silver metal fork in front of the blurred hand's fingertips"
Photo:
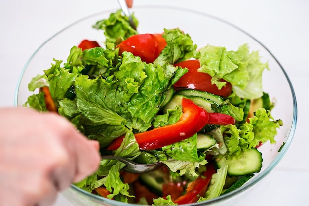
[[[126,165],[125,167],[123,167],[122,171],[130,172],[130,173],[147,173],[147,172],[151,172],[156,169],[159,169],[160,167],[164,165],[164,163],[162,162],[151,163],[151,164],[139,164],[127,158],[113,156],[113,155],[101,156],[101,159],[119,160],[120,162]]]

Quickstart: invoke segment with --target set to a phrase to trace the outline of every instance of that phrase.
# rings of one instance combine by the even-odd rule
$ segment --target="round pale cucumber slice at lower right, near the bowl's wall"
[[[222,157],[217,161],[217,165],[221,168],[225,162],[228,165],[228,175],[242,176],[259,172],[262,168],[262,161],[262,153],[256,148],[251,148],[238,158],[225,159]]]

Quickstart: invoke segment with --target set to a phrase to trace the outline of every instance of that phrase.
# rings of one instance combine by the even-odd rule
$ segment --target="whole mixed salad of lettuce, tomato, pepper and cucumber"
[[[85,37],[67,59],[53,59],[29,82],[34,93],[24,106],[67,118],[100,142],[101,155],[164,163],[135,174],[117,160],[102,160],[74,184],[99,201],[212,200],[259,173],[259,148],[276,143],[283,121],[272,116],[275,103],[263,90],[263,72],[271,68],[259,51],[246,43],[236,50],[197,45],[177,26],[139,33],[116,11],[93,24],[105,41]]]

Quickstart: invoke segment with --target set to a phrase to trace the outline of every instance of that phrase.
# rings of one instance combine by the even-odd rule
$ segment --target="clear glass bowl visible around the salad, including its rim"
[[[70,48],[73,45],[78,45],[83,39],[103,42],[105,40],[103,32],[93,29],[92,25],[98,20],[108,18],[109,14],[115,11],[107,10],[81,19],[43,43],[23,69],[15,94],[16,106],[22,106],[27,101],[28,96],[32,94],[28,91],[28,83],[37,74],[42,74],[44,69],[48,69],[53,58],[65,60]],[[272,116],[281,119],[283,126],[278,130],[278,135],[275,138],[276,144],[267,143],[259,147],[263,154],[262,170],[242,187],[226,195],[205,202],[190,204],[193,206],[221,206],[227,203],[237,205],[242,199],[240,197],[251,191],[252,186],[258,185],[260,180],[267,176],[279,163],[293,139],[297,105],[293,87],[287,74],[273,54],[261,42],[231,23],[184,8],[140,6],[135,7],[133,11],[139,20],[139,33],[161,33],[163,28],[178,27],[188,33],[198,46],[211,44],[224,46],[227,50],[237,50],[238,46],[247,43],[250,50],[259,51],[263,62],[268,61],[270,70],[264,71],[263,90],[269,93],[270,98],[276,102]],[[158,13],[160,15],[157,15]],[[63,195],[76,206],[134,205],[99,197],[74,185],[64,191]]]

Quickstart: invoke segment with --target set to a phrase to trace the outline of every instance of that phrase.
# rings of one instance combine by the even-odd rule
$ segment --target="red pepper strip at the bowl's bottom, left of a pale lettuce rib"
[[[198,201],[200,196],[205,195],[208,185],[210,183],[212,175],[216,172],[215,166],[213,163],[207,164],[207,170],[203,172],[196,180],[191,182],[186,190],[186,193],[176,200],[174,203],[178,205],[195,203]]]

